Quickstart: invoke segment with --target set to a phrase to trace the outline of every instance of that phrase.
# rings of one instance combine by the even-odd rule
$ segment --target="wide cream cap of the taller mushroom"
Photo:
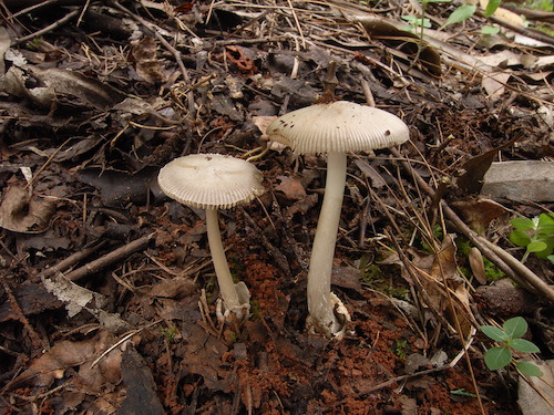
[[[266,134],[295,153],[318,154],[392,147],[404,143],[410,132],[402,120],[387,111],[337,101],[285,114]]]

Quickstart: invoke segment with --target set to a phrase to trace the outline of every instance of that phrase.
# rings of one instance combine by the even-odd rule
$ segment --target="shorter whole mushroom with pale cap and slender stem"
[[[240,158],[194,154],[170,162],[160,170],[157,180],[172,199],[206,210],[209,250],[225,305],[220,314],[243,320],[250,308],[249,292],[243,281],[233,282],[223,249],[217,209],[228,209],[264,194],[261,173]]]

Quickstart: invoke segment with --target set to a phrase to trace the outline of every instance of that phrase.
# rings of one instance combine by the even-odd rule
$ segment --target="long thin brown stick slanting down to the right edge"
[[[396,157],[402,158],[400,152],[398,152],[394,148],[391,148],[392,154],[394,154]],[[404,159],[401,160],[403,167],[410,172],[416,180],[418,181],[418,185],[429,195],[433,196],[434,191],[429,186],[425,180],[416,172],[411,168],[410,164]],[[483,242],[482,237],[480,237],[478,234],[475,234],[465,222],[460,219],[458,214],[452,210],[450,206],[447,205],[444,200],[441,201],[441,206],[444,209],[444,215],[452,221],[454,227],[460,230],[483,255],[489,258],[492,262],[494,262],[506,276],[512,278],[515,282],[527,288],[530,291],[536,291],[546,297],[550,301],[554,302],[554,290],[546,284],[538,276],[536,276],[533,271],[531,271],[527,267],[525,267],[523,263],[517,261],[514,257],[512,257],[509,252],[503,250],[503,258],[501,258],[496,251],[499,251],[501,248],[495,247],[495,250],[492,250],[490,248],[491,242],[485,243]],[[507,260],[511,263],[516,263],[517,264],[516,269],[513,269],[510,263],[507,263]]]

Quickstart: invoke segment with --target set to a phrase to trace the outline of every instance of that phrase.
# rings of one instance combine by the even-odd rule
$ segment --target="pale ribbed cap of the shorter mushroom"
[[[250,163],[220,154],[193,154],[166,164],[157,176],[163,193],[184,205],[227,209],[264,194],[261,173]]]

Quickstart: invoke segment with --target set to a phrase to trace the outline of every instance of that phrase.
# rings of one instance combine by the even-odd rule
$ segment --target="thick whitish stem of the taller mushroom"
[[[331,271],[345,195],[346,170],[346,153],[331,152],[327,155],[324,204],[319,214],[308,271],[308,311],[310,314],[308,323],[327,336],[337,335],[343,329],[343,324],[334,313],[337,298],[331,295]]]

